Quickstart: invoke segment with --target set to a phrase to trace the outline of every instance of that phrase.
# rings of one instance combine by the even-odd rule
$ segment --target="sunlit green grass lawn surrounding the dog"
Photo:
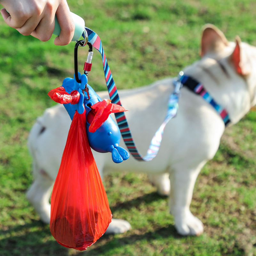
[[[167,76],[199,58],[201,28],[213,23],[233,40],[256,46],[256,2],[250,0],[68,1],[72,12],[102,40],[117,88]],[[53,36],[54,37],[54,36]],[[132,230],[104,235],[86,252],[67,249],[51,236],[25,197],[32,183],[26,146],[36,117],[55,103],[47,92],[73,76],[74,43],[55,46],[22,36],[0,19],[0,255],[256,255],[256,111],[225,132],[220,149],[200,173],[191,211],[204,234],[181,237],[145,174],[104,179],[114,218]],[[79,49],[79,69],[87,50]],[[95,51],[89,84],[105,90]]]

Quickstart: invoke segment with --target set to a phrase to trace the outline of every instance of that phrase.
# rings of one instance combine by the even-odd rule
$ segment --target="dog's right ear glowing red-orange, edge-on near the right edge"
[[[251,73],[252,67],[248,57],[246,57],[245,54],[242,54],[241,39],[239,36],[236,36],[236,46],[230,56],[230,59],[239,75],[246,76]]]

